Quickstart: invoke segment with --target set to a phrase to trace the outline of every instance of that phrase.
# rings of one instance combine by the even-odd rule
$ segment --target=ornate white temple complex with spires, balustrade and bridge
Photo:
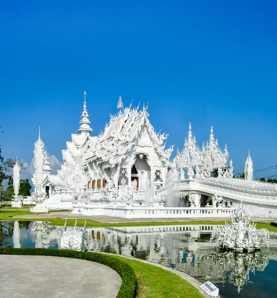
[[[148,107],[124,108],[121,96],[117,107],[104,132],[90,136],[84,92],[78,134],[62,150],[57,175],[39,136],[32,181],[46,208],[125,218],[226,217],[243,202],[254,217],[277,218],[277,186],[253,181],[250,161],[247,179],[233,178],[227,147],[218,148],[212,127],[200,149],[190,124],[184,149],[170,160],[173,146],[165,149],[167,135],[155,133]]]

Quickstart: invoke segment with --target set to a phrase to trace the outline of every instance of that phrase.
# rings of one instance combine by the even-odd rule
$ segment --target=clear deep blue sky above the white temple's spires
[[[172,157],[192,122],[200,146],[213,126],[235,172],[248,149],[254,170],[277,164],[276,11],[275,0],[2,1],[3,156],[30,164],[40,126],[61,161],[86,90],[92,135],[121,95],[149,101]]]

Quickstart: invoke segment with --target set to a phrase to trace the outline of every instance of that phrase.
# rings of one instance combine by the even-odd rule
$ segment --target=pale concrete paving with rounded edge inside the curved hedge
[[[0,255],[0,298],[116,298],[121,277],[95,262]]]

